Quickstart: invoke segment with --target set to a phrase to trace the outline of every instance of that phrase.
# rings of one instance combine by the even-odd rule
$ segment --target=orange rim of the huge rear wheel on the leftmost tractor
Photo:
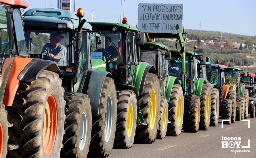
[[[58,126],[58,109],[54,95],[49,95],[43,116],[43,148],[46,155],[50,155],[54,148],[57,126]]]

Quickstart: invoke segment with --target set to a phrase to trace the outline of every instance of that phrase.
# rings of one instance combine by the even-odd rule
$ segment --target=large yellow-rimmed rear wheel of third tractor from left
[[[147,125],[136,128],[136,142],[153,143],[157,136],[160,113],[160,87],[158,76],[148,73],[142,93],[139,94],[139,106]]]

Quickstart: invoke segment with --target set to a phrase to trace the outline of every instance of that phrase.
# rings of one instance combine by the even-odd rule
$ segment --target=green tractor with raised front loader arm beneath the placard
[[[183,89],[184,98],[184,132],[207,130],[210,124],[211,89],[204,78],[197,77],[197,57],[191,51],[185,51],[186,31],[179,34],[149,33],[148,38],[175,38],[181,50],[169,50],[171,59],[168,62],[169,76],[177,78],[177,84]]]

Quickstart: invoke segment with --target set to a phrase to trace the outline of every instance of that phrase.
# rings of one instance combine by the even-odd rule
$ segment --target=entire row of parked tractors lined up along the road
[[[127,18],[86,22],[81,8],[21,16],[26,2],[0,3],[0,157],[108,157],[255,116],[248,75],[186,51],[184,28],[142,33]]]

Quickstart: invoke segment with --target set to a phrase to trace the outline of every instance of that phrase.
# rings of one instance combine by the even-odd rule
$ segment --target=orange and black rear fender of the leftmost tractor
[[[15,57],[5,86],[3,103],[12,106],[14,96],[20,82],[37,80],[43,70],[59,73],[60,69],[55,61],[39,58]]]

